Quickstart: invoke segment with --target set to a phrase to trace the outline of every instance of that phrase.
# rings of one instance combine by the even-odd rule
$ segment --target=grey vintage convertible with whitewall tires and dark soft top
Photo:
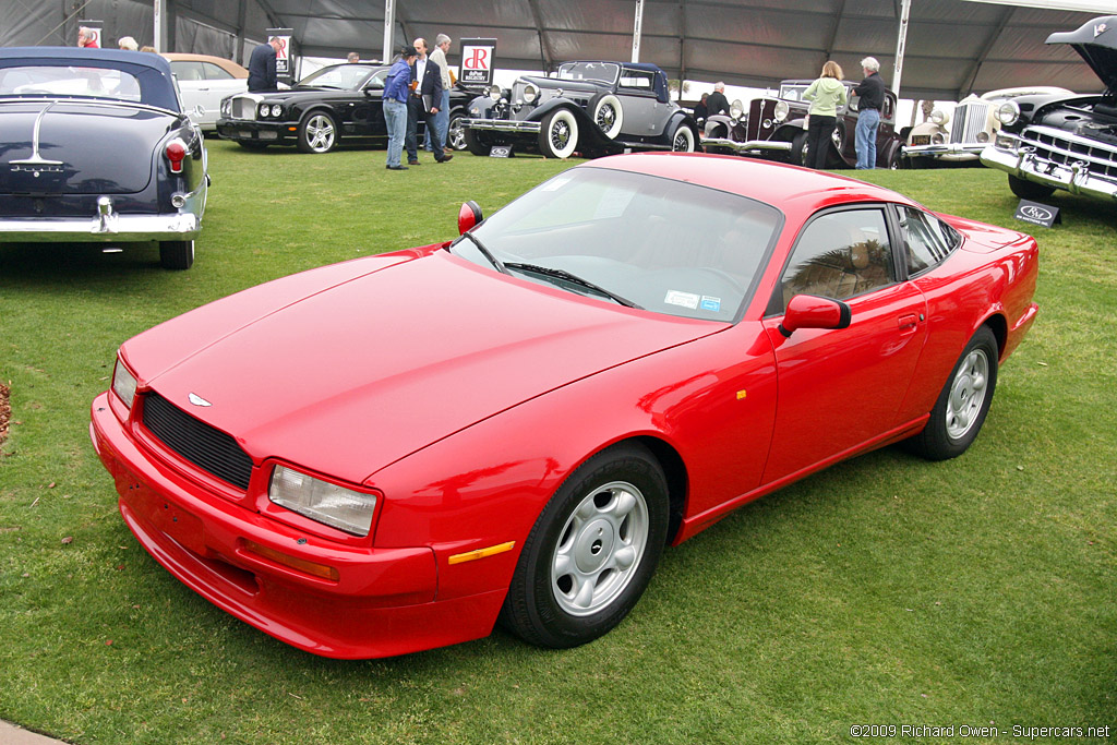
[[[462,121],[475,155],[512,145],[547,157],[626,150],[694,152],[698,125],[668,95],[655,65],[570,61],[554,77],[519,77],[469,104]]]

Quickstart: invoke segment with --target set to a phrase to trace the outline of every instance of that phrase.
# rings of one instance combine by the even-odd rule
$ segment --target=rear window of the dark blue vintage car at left
[[[6,67],[0,69],[0,96],[74,96],[139,102],[140,80],[131,73],[83,64]]]

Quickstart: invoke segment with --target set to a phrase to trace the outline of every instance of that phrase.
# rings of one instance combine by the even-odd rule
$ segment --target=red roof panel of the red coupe
[[[598,159],[577,168],[608,168],[686,181],[748,197],[800,217],[823,207],[852,202],[885,201],[919,207],[890,189],[857,179],[739,155],[632,153]]]

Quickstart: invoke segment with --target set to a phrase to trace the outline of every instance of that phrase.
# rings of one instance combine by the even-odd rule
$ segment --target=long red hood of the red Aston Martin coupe
[[[438,250],[262,285],[141,334],[124,356],[257,462],[274,456],[360,483],[527,399],[720,328]],[[191,405],[190,393],[212,405]]]

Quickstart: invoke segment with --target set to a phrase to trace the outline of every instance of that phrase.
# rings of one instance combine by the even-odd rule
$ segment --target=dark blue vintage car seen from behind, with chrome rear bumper
[[[170,64],[116,49],[0,49],[0,241],[159,241],[189,269],[209,178]]]

